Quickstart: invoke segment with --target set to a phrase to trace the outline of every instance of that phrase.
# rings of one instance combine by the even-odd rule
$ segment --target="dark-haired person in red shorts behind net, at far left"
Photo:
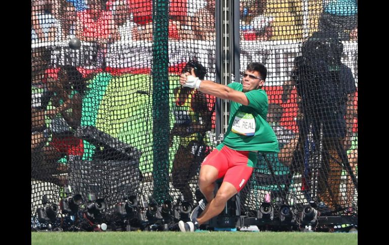
[[[52,166],[67,156],[68,160],[81,160],[84,149],[81,139],[74,136],[80,125],[82,96],[86,92],[86,79],[74,66],[63,66],[58,72],[58,81],[53,82],[53,109],[46,112],[51,118],[52,141],[43,148],[44,159]],[[66,165],[60,165],[63,170]],[[63,179],[66,183],[66,179]]]

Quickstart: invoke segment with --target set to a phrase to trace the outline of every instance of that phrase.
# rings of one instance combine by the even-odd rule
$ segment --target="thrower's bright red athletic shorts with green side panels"
[[[203,161],[203,165],[214,166],[223,181],[231,183],[239,192],[253,173],[257,163],[257,153],[251,151],[235,151],[223,143],[219,144]]]

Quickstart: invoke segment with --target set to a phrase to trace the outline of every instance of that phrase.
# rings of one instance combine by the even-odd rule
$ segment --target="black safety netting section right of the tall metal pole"
[[[357,217],[357,2],[239,7],[240,72],[254,61],[268,68],[267,121],[280,149],[259,153],[241,210],[281,223],[299,213],[312,225],[310,215]]]

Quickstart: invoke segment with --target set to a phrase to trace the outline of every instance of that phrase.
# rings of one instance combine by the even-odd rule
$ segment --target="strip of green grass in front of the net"
[[[31,244],[357,244],[356,233],[322,232],[32,232]]]

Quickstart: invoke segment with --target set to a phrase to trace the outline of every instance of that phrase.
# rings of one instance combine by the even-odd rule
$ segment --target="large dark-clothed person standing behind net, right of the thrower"
[[[295,151],[292,168],[305,175],[304,164],[309,154],[320,155],[318,163],[318,199],[331,211],[341,209],[339,188],[342,168],[349,169],[344,141],[348,141],[353,117],[351,115],[356,91],[351,69],[341,63],[343,44],[334,33],[314,33],[302,47],[302,57],[297,57],[293,77],[301,97],[303,119],[299,122],[300,139]],[[308,137],[312,135],[312,139]],[[309,146],[309,145],[310,146]],[[316,160],[308,161],[316,161]],[[309,181],[303,189],[309,190]],[[311,190],[315,191],[315,190]]]

